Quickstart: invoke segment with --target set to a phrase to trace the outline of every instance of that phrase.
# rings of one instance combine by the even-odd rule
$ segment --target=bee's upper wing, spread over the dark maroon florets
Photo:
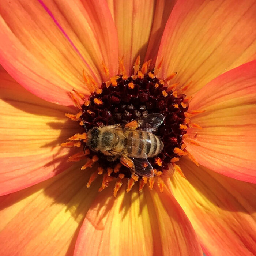
[[[114,129],[138,129],[146,132],[155,132],[157,127],[163,123],[165,117],[162,114],[152,113],[147,116],[139,117],[127,124],[117,126]]]

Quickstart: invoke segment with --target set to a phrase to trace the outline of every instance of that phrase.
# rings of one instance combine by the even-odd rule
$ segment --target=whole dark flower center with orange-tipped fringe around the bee
[[[174,75],[175,73],[168,79],[170,80]],[[87,78],[85,77],[85,79]],[[110,78],[108,82],[103,82],[101,88],[91,88],[92,93],[87,100],[82,94],[75,91],[75,94],[84,100],[82,106],[80,106],[79,100],[75,95],[71,94],[75,105],[79,108],[79,113],[76,115],[67,114],[67,116],[74,121],[79,121],[80,125],[84,125],[86,128],[86,132],[89,132],[72,136],[68,139],[69,142],[63,143],[62,146],[83,147],[83,152],[69,157],[69,161],[79,161],[86,157],[87,162],[82,166],[82,169],[91,167],[95,162],[98,163],[99,167],[91,175],[87,187],[91,185],[98,174],[103,174],[100,190],[107,187],[110,181],[116,179],[114,196],[116,196],[118,189],[125,179],[128,180],[127,192],[131,190],[136,181],[139,181],[139,190],[147,183],[149,188],[153,189],[155,181],[157,181],[156,183],[162,191],[162,174],[166,173],[170,168],[182,174],[180,167],[175,162],[182,155],[187,154],[183,138],[190,122],[187,113],[189,99],[183,94],[182,89],[175,89],[177,84],[168,84],[166,80],[156,77],[156,71],[150,69],[150,61],[144,63],[142,68],[139,69],[138,57],[134,65],[134,75],[128,77],[121,62],[120,74]],[[90,86],[93,87],[93,85]],[[149,132],[149,134],[154,134],[161,140],[163,144],[162,150],[153,156],[149,154],[150,149],[148,151],[145,149],[145,152],[148,153],[147,161],[153,167],[154,177],[145,177],[138,174],[138,172],[136,173],[136,171],[134,172],[134,169],[129,167],[128,164],[121,164],[121,154],[111,156],[111,154],[108,154],[111,150],[101,150],[108,143],[107,140],[97,140],[97,143],[100,143],[100,146],[97,145],[97,150],[88,142],[89,134],[91,138],[91,131],[98,131],[100,133],[97,127],[125,125],[133,120],[140,120],[142,117],[147,118],[150,114],[161,114],[164,117],[162,124],[156,127],[154,131]],[[136,131],[136,128],[134,128],[134,131]],[[131,132],[131,135],[134,134],[134,131]],[[94,135],[96,136],[95,138],[99,136],[98,133]],[[148,138],[151,138],[150,136]],[[153,143],[151,141],[151,144]],[[140,147],[146,146],[146,144],[140,145]],[[153,144],[153,146],[155,145]],[[138,150],[142,154],[140,147]],[[157,145],[155,147],[157,148]],[[111,147],[108,149],[113,150]],[[130,155],[127,157],[128,159],[132,157],[132,152],[135,151],[131,149]],[[135,158],[138,158],[138,155]]]

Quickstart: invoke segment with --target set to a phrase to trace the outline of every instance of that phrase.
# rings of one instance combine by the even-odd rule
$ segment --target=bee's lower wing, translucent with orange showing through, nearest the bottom
[[[153,167],[146,158],[128,157],[127,155],[122,154],[120,162],[127,168],[133,170],[139,176],[148,178],[154,176]]]

